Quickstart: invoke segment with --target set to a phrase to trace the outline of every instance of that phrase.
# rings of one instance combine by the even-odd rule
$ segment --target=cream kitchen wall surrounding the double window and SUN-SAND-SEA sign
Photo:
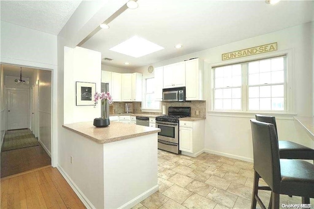
[[[205,121],[205,149],[207,152],[236,157],[251,161],[253,158],[251,127],[249,119],[255,116],[252,114],[217,114],[211,112],[210,89],[211,89],[211,65],[226,64],[239,60],[250,60],[269,56],[269,53],[245,58],[221,61],[221,54],[236,50],[260,46],[267,43],[278,42],[278,51],[290,51],[292,58],[293,84],[295,92],[295,114],[298,116],[313,116],[313,22],[299,26],[289,27],[276,32],[261,36],[245,39],[231,44],[211,48],[201,52],[176,57],[154,63],[153,66],[159,67],[167,64],[183,61],[185,59],[200,57],[207,64],[205,65],[205,94],[207,96],[208,112]],[[135,69],[133,72],[147,74],[147,67]],[[193,111],[193,110],[192,110]],[[293,115],[277,117],[279,139],[298,141],[301,144],[314,147],[313,140],[304,135],[302,140],[296,139],[300,131],[297,131],[293,122]]]

